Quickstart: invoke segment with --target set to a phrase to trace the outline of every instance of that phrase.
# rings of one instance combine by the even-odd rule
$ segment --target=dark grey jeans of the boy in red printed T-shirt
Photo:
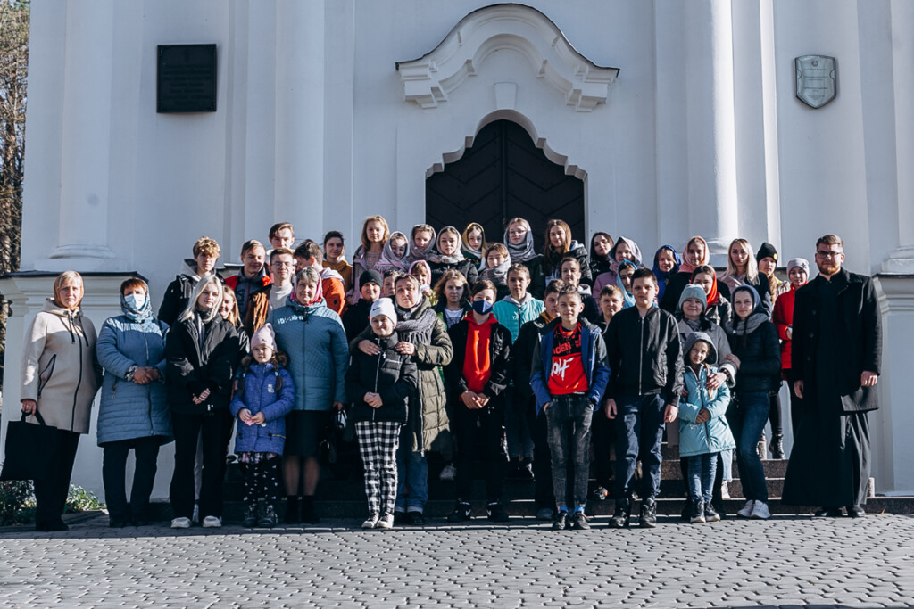
[[[590,421],[593,405],[584,395],[559,395],[546,409],[549,454],[552,457],[552,487],[558,508],[568,507],[568,464],[574,467],[575,508],[587,502],[590,478]]]

